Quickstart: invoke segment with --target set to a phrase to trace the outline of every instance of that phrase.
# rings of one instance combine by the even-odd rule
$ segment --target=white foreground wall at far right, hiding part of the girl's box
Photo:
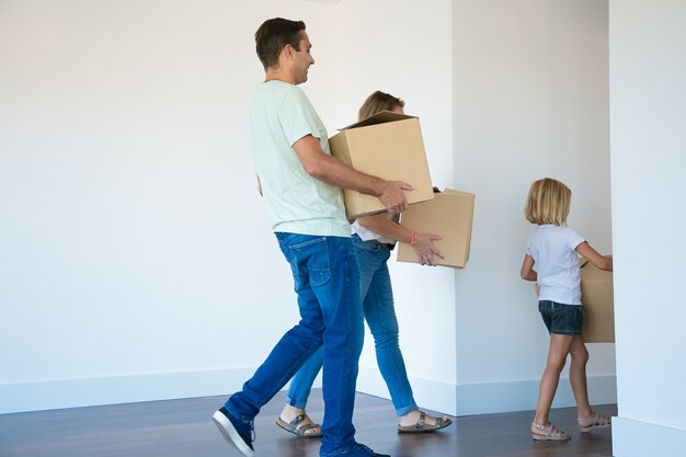
[[[686,4],[610,1],[618,418],[613,455],[682,456]]]

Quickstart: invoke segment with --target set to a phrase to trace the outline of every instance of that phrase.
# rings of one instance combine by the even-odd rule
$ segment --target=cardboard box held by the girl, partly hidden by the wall
[[[585,262],[585,263],[583,263]],[[613,272],[596,269],[582,260],[581,302],[584,305],[583,340],[585,343],[615,342],[615,300]]]

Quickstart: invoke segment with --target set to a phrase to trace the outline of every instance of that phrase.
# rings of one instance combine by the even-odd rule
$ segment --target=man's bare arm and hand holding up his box
[[[400,181],[386,181],[362,173],[325,153],[319,139],[307,135],[293,145],[305,171],[312,178],[336,187],[350,188],[379,198],[390,214],[402,213],[408,207],[404,191],[412,191],[410,184]]]

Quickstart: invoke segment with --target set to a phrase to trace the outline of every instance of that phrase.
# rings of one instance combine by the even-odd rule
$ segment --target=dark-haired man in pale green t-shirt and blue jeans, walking
[[[315,64],[301,21],[276,18],[255,33],[265,82],[252,98],[248,140],[279,248],[290,264],[300,322],[213,419],[225,438],[254,455],[253,419],[324,344],[321,457],[388,457],[355,442],[352,423],[363,343],[359,276],[340,187],[377,196],[391,214],[412,186],[353,170],[331,157],[327,130],[305,93]]]

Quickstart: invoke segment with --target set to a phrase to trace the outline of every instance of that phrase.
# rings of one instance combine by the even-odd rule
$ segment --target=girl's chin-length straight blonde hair
[[[531,184],[524,215],[531,224],[563,226],[571,203],[572,191],[567,185],[552,178],[544,178]]]

